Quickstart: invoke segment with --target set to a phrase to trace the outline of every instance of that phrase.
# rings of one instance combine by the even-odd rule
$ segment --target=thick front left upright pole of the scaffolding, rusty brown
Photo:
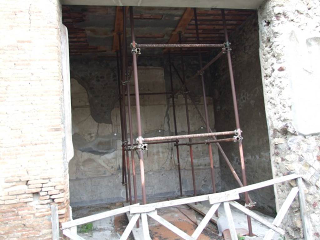
[[[130,11],[130,25],[131,25],[131,39],[132,39],[132,68],[133,68],[134,92],[135,92],[135,98],[136,98],[136,111],[137,111],[137,124],[138,124],[138,143],[142,145],[137,52],[135,51],[136,41],[135,41],[135,36],[134,36],[134,23],[133,23],[133,9],[132,9],[132,7],[129,7],[129,11]],[[142,152],[141,148],[139,149],[139,158],[140,158],[142,203],[146,204],[147,203],[146,185],[145,185],[145,176],[144,176],[143,152]]]

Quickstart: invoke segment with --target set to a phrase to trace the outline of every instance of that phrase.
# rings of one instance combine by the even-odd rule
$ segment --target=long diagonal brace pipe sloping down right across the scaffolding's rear
[[[182,80],[182,78],[181,78],[181,76],[180,76],[177,68],[174,66],[173,63],[172,63],[172,67],[173,67],[173,69],[175,70],[177,76],[179,77],[181,83],[183,84],[183,80]],[[202,122],[203,122],[204,124],[206,124],[206,121],[205,121],[205,119],[204,119],[204,116],[202,115],[202,113],[200,112],[199,108],[198,108],[197,105],[196,105],[196,101],[195,101],[195,100],[192,98],[192,96],[188,93],[188,88],[187,88],[186,86],[185,86],[185,88],[186,88],[186,90],[187,90],[187,94],[189,95],[189,98],[190,98],[192,104],[193,104],[194,107],[196,108],[199,116],[201,117]],[[210,128],[210,132],[213,132],[211,128]],[[212,138],[213,138],[213,140],[217,140],[215,136],[213,136]],[[239,176],[237,175],[235,169],[233,168],[232,164],[230,163],[230,161],[229,161],[226,153],[223,151],[221,145],[220,145],[219,143],[216,143],[216,145],[217,145],[217,147],[218,147],[221,155],[223,156],[223,159],[226,161],[226,163],[227,163],[230,171],[232,172],[233,176],[235,177],[237,183],[239,184],[240,187],[243,187],[242,181],[240,180]],[[248,197],[249,197],[250,204],[253,205],[254,202],[252,201],[252,199],[250,198],[250,196],[248,196]]]

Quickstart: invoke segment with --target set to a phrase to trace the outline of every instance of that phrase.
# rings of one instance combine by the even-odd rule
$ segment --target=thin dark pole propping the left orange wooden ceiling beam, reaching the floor
[[[120,123],[121,123],[121,137],[122,137],[122,185],[125,186],[125,198],[126,202],[129,202],[128,197],[128,185],[127,185],[127,170],[126,170],[126,164],[125,164],[125,145],[124,145],[124,119],[123,119],[123,103],[122,103],[122,96],[121,96],[121,80],[120,80],[120,69],[119,69],[119,63],[120,66],[122,66],[122,52],[121,52],[121,34],[118,33],[118,41],[119,41],[119,59],[117,59],[117,70],[118,70],[118,92],[119,92],[119,104],[120,104]],[[117,55],[118,57],[118,55]],[[122,79],[122,69],[121,69],[121,79]],[[123,91],[123,88],[122,88]]]

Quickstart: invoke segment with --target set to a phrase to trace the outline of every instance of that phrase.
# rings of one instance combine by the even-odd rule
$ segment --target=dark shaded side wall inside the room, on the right
[[[229,36],[240,126],[244,137],[243,146],[248,184],[272,178],[259,60],[258,31],[258,15],[254,14]],[[212,65],[211,75],[214,82],[212,95],[215,105],[215,127],[217,131],[234,130],[236,123],[226,55]],[[238,144],[221,143],[221,146],[242,179]],[[220,157],[220,164],[222,189],[229,190],[239,187],[222,157]],[[252,191],[250,196],[253,201],[257,202],[258,209],[262,208],[268,214],[275,214],[275,196],[272,187]]]

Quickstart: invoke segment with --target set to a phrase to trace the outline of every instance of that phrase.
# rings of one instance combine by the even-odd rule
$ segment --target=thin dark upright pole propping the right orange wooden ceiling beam
[[[179,33],[179,42],[181,43],[181,33]],[[184,61],[183,61],[182,48],[180,48],[180,56],[181,56],[182,79],[183,79],[184,84],[186,84],[185,75],[184,75]],[[190,120],[189,120],[188,97],[187,97],[186,90],[185,90],[185,93],[184,93],[184,100],[185,100],[185,104],[186,104],[186,115],[187,115],[188,134],[190,134],[191,130],[190,130]],[[191,139],[191,138],[189,138],[189,142],[192,142],[192,139]],[[192,173],[192,183],[193,183],[193,195],[194,195],[194,196],[197,196],[195,168],[194,168],[194,164],[193,164],[193,150],[192,150],[192,146],[191,146],[191,145],[189,145],[189,151],[190,151],[190,160],[191,160],[191,173]]]

